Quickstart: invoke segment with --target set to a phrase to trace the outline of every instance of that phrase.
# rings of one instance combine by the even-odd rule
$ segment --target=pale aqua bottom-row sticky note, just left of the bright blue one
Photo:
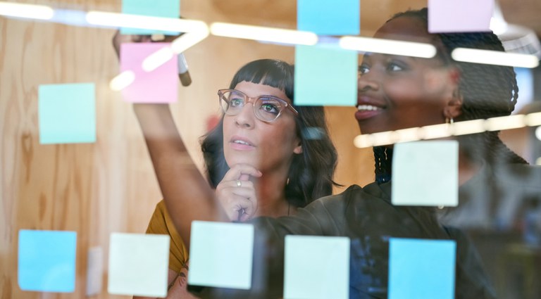
[[[284,299],[349,298],[349,238],[285,236]]]

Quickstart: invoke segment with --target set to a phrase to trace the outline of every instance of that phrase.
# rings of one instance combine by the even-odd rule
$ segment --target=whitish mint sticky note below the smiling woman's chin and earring
[[[394,205],[458,205],[458,141],[395,144],[391,189]]]

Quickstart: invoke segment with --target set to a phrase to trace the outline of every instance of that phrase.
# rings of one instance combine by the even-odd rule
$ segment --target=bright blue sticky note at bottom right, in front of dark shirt
[[[389,299],[453,299],[456,243],[390,238]]]

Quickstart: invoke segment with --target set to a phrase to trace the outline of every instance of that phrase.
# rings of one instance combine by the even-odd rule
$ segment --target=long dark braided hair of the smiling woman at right
[[[405,11],[392,16],[409,17],[421,20],[428,32],[428,9]],[[453,61],[451,52],[456,48],[485,49],[504,51],[502,42],[493,32],[456,32],[433,34],[442,42],[437,57],[444,63],[454,65],[460,71],[459,93],[463,97],[462,113],[455,121],[486,119],[510,115],[518,98],[516,74],[508,66],[464,63]],[[527,163],[511,151],[499,139],[499,132],[483,132],[458,136],[461,150],[472,161],[485,161],[490,165],[498,163]],[[385,147],[374,148],[376,181],[390,179],[390,158],[392,150]]]

